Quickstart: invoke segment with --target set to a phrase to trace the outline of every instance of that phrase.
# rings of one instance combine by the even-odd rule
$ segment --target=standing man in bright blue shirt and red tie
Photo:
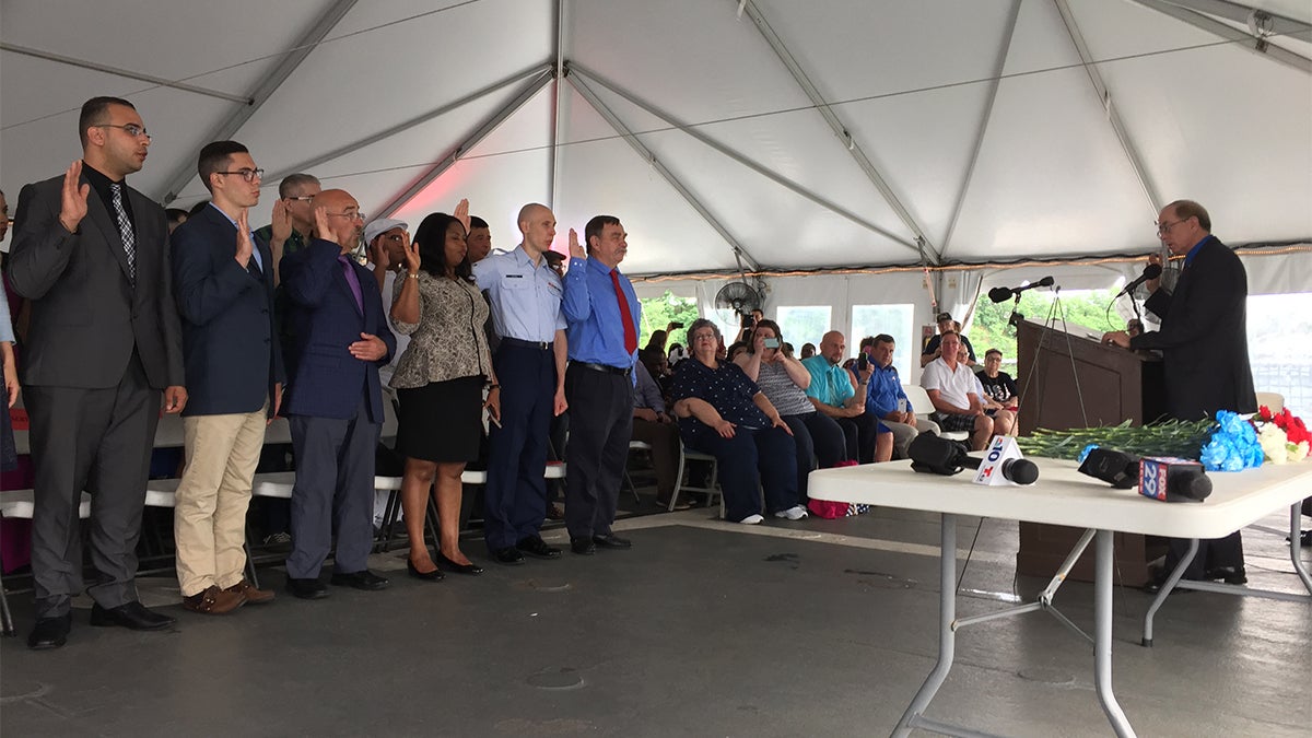
[[[565,398],[573,407],[565,450],[565,525],[571,550],[592,554],[597,546],[631,545],[611,533],[610,524],[615,521],[619,481],[634,435],[634,364],[642,305],[628,277],[619,273],[619,263],[628,252],[619,218],[597,215],[583,232],[586,252],[579,234],[569,228],[565,273]]]

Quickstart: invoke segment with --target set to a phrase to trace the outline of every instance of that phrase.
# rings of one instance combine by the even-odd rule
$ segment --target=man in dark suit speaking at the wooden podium
[[[1161,328],[1131,337],[1124,331],[1102,336],[1109,344],[1134,351],[1157,349],[1165,373],[1166,414],[1178,420],[1215,418],[1218,410],[1256,412],[1253,370],[1248,361],[1248,273],[1244,263],[1212,235],[1212,221],[1202,205],[1177,200],[1161,209],[1157,236],[1173,256],[1183,256],[1174,292],[1161,280],[1147,282],[1152,293],[1144,307],[1161,318]],[[1151,264],[1161,264],[1153,255]],[[1172,538],[1161,580],[1189,550],[1189,541]],[[1248,582],[1244,544],[1239,532],[1199,541],[1186,579]]]

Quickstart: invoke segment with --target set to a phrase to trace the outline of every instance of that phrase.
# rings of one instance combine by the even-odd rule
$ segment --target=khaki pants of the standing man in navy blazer
[[[211,584],[231,587],[244,576],[245,513],[266,410],[182,419],[186,467],[177,486],[173,540],[184,597]]]

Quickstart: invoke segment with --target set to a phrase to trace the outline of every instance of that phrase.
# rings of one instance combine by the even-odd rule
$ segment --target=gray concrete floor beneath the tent
[[[649,492],[647,504],[651,506]],[[631,500],[628,500],[631,506]],[[628,552],[432,584],[378,554],[383,592],[281,594],[224,617],[178,607],[165,633],[91,628],[56,651],[0,643],[0,733],[58,735],[886,735],[933,666],[937,516],[724,524],[706,510],[625,520]],[[1014,576],[1017,525],[968,519],[959,615],[1005,607],[1046,582]],[[1260,524],[1274,531],[1287,517]],[[546,536],[564,541],[563,531]],[[1283,534],[1245,534],[1252,586],[1298,592]],[[479,554],[482,542],[466,542]],[[1309,549],[1304,559],[1312,558]],[[1092,628],[1092,587],[1057,607]],[[1115,592],[1113,679],[1140,735],[1312,734],[1312,605],[1193,592],[1157,616]],[[89,603],[87,603],[89,607]],[[958,636],[929,717],[1009,735],[1107,735],[1092,649],[1043,613]]]

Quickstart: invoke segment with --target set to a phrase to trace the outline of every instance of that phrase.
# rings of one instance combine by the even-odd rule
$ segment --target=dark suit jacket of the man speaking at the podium
[[[1199,247],[1174,293],[1158,289],[1144,303],[1161,318],[1161,330],[1130,339],[1130,347],[1161,351],[1172,418],[1199,420],[1218,410],[1257,411],[1246,303],[1244,263],[1216,236]]]

